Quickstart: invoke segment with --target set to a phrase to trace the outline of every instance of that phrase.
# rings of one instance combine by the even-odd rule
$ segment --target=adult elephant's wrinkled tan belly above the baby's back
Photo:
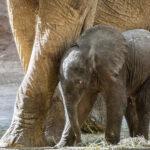
[[[121,31],[150,28],[149,0],[98,0],[95,24],[113,25]]]

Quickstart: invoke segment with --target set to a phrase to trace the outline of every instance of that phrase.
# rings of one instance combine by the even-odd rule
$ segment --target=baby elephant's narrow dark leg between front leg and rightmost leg
[[[136,109],[136,99],[128,98],[127,100],[127,108],[125,112],[125,118],[129,127],[129,132],[131,137],[137,136],[137,128],[138,128],[138,116]]]

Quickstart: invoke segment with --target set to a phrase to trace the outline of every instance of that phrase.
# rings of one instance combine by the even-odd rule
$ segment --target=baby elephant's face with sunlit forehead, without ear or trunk
[[[62,60],[60,82],[64,95],[67,95],[74,102],[77,102],[84,90],[89,87],[88,61],[78,45],[71,47]],[[67,97],[65,98],[66,100],[68,99]]]

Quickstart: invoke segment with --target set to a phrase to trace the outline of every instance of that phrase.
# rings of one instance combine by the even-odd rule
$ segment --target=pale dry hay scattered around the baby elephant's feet
[[[121,139],[117,145],[108,144],[104,135],[82,135],[82,143],[91,149],[147,149],[150,150],[150,141],[143,137]]]

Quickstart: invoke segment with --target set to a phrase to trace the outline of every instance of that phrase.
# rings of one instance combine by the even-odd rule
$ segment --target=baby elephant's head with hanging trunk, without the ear
[[[78,120],[78,104],[87,93],[90,85],[90,73],[88,72],[87,59],[78,45],[73,46],[66,53],[61,62],[59,88],[62,95],[66,125],[62,137],[70,132],[70,125],[75,134],[75,142],[81,140]],[[67,121],[69,118],[69,121]]]

